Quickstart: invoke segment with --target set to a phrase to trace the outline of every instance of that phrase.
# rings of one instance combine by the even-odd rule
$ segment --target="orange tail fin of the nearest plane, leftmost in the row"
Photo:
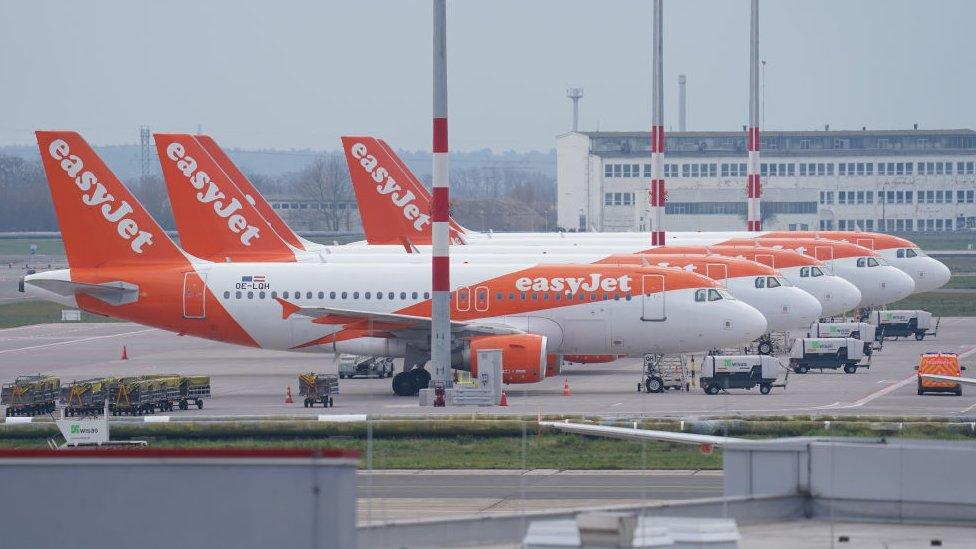
[[[35,133],[72,268],[187,261],[78,133]]]

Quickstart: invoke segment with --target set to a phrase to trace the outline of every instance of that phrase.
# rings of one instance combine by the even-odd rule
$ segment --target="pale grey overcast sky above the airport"
[[[762,0],[769,129],[973,128],[968,0]],[[665,125],[748,115],[748,0],[665,0]],[[569,129],[650,119],[650,0],[448,1],[451,147],[548,150]],[[138,127],[244,148],[334,149],[343,134],[430,146],[430,0],[0,3],[0,144],[37,128],[95,144]]]

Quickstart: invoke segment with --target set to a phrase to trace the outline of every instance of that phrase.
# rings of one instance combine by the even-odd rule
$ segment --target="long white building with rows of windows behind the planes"
[[[665,137],[665,229],[745,230],[746,132]],[[762,133],[762,218],[770,230],[976,228],[976,131]],[[557,137],[558,224],[649,231],[649,132]]]

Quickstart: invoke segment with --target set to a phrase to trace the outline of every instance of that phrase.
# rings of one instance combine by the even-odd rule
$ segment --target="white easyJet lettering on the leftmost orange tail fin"
[[[115,224],[115,230],[123,239],[130,241],[129,246],[137,254],[142,253],[144,246],[152,246],[152,233],[139,229],[139,223],[129,217],[132,205],[125,200],[116,202],[109,194],[105,185],[98,181],[98,176],[85,169],[85,163],[77,155],[71,154],[71,148],[63,139],[55,139],[48,146],[51,158],[60,162],[61,169],[68,177],[75,180],[75,185],[81,190],[81,201],[89,207],[98,208],[105,221]]]

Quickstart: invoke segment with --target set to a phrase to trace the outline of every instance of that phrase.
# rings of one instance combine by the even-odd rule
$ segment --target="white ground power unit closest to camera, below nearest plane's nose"
[[[701,387],[709,395],[725,389],[752,389],[768,395],[776,387],[776,378],[783,368],[779,360],[769,355],[711,355],[702,361]]]

